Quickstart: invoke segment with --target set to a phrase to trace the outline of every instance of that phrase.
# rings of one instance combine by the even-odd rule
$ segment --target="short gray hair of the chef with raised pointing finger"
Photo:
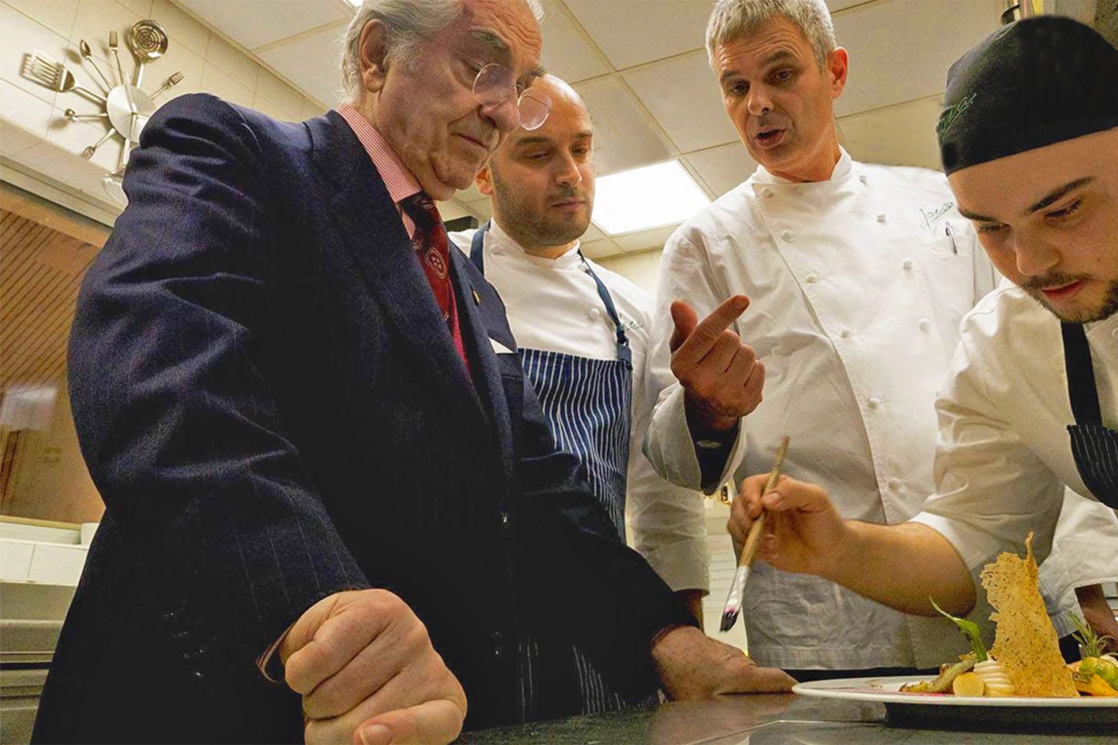
[[[707,58],[714,66],[718,47],[749,36],[775,18],[786,18],[799,29],[819,67],[839,45],[824,0],[718,0],[707,21]]]

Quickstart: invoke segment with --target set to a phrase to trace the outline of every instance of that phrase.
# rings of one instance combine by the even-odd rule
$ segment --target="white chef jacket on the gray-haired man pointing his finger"
[[[934,401],[959,321],[995,285],[940,173],[855,163],[845,151],[825,182],[792,183],[758,168],[669,239],[652,374],[669,369],[673,300],[703,317],[745,293],[751,304],[735,329],[765,363],[766,381],[742,420],[736,476],[768,471],[789,434],[785,474],[825,487],[844,517],[901,523],[934,491]],[[646,447],[661,474],[694,487],[685,428],[674,383],[661,392]],[[1062,615],[1074,595],[1058,558],[1051,566],[1050,611]],[[965,651],[945,619],[906,615],[762,562],[742,618],[750,655],[789,669],[928,667]]]

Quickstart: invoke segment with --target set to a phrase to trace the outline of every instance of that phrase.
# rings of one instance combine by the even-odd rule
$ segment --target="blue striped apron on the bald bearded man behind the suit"
[[[485,222],[474,233],[470,247],[470,259],[477,270],[485,274],[483,252],[485,233],[490,223]],[[539,397],[540,405],[548,420],[548,428],[556,445],[572,452],[582,462],[590,483],[590,490],[598,503],[609,514],[617,528],[617,535],[625,543],[625,488],[629,455],[629,412],[633,400],[633,351],[629,347],[625,326],[622,324],[613,297],[606,285],[590,268],[589,262],[578,254],[582,268],[598,286],[598,297],[606,306],[606,313],[616,332],[616,359],[594,360],[562,352],[520,347],[520,360],[524,373]],[[555,674],[556,666],[540,663],[540,649],[536,642],[520,646],[521,696],[528,711],[536,709],[532,699],[536,688],[553,688],[557,681],[540,680],[540,676]],[[624,708],[627,705],[647,701],[626,701],[610,690],[586,655],[577,647],[562,653],[559,672],[567,677],[570,668],[577,674],[581,691],[582,714],[599,714]],[[551,668],[551,674],[546,670]],[[655,700],[654,698],[651,700]]]

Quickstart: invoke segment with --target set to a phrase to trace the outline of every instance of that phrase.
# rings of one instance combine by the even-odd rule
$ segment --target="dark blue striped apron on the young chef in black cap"
[[[1095,384],[1091,347],[1082,324],[1060,324],[1068,397],[1074,424],[1068,424],[1071,455],[1080,478],[1096,498],[1118,509],[1118,431],[1102,424],[1099,391]]]

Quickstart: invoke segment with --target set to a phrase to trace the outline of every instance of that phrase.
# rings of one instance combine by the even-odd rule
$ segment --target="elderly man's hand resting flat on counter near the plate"
[[[693,627],[679,627],[661,636],[652,647],[652,658],[672,700],[784,693],[796,685],[784,670],[757,667],[737,647]]]

